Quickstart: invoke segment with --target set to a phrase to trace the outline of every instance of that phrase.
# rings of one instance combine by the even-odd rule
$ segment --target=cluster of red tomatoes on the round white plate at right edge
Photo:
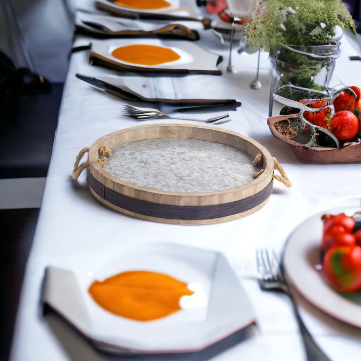
[[[344,213],[323,215],[322,270],[342,292],[361,290],[361,221]]]

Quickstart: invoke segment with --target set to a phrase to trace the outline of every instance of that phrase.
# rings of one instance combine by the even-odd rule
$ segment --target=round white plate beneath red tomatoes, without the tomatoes
[[[321,216],[326,213],[345,213],[352,216],[359,211],[359,207],[343,207],[308,218],[291,234],[283,256],[287,281],[314,306],[356,327],[361,327],[361,292],[344,293],[334,290],[318,266],[322,236]]]

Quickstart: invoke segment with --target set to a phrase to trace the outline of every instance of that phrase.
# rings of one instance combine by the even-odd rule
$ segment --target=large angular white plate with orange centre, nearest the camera
[[[162,242],[114,252],[71,270],[49,266],[43,283],[45,312],[55,311],[100,351],[197,352],[255,322],[221,253]],[[124,303],[112,304],[114,298]]]

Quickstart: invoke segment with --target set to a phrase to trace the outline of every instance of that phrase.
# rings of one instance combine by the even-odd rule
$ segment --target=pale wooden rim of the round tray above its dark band
[[[191,137],[188,135],[191,135]],[[120,141],[118,140],[118,142],[115,144],[114,139],[116,136],[122,137],[123,139]],[[101,165],[99,165],[97,161],[99,158],[98,149],[104,144],[112,149],[115,146],[136,140],[169,137],[214,141],[217,143],[234,146],[244,151],[247,150],[240,147],[240,142],[250,144],[251,147],[257,149],[257,153],[251,154],[252,156],[256,156],[258,153],[262,153],[263,168],[265,170],[258,178],[253,179],[251,182],[243,186],[213,192],[186,193],[149,189],[134,185],[132,183],[124,182],[124,180],[108,173],[104,168],[101,167]],[[228,129],[203,126],[198,124],[157,123],[125,128],[99,138],[89,149],[89,171],[93,177],[98,180],[98,182],[115,192],[127,195],[132,198],[168,205],[174,205],[174,202],[176,205],[184,206],[215,205],[252,196],[253,194],[258,193],[267,187],[272,182],[273,169],[274,162],[270,152],[256,140]],[[255,188],[254,192],[249,191],[252,187]]]

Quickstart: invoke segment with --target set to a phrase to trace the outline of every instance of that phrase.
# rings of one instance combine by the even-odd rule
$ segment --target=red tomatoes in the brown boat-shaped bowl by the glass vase
[[[327,100],[303,101],[313,108],[327,104]],[[345,88],[333,99],[334,113],[330,107],[324,107],[316,113],[305,111],[303,116],[311,124],[328,129],[339,140],[350,140],[361,132],[361,91],[356,86]]]

